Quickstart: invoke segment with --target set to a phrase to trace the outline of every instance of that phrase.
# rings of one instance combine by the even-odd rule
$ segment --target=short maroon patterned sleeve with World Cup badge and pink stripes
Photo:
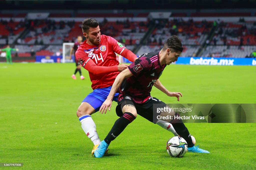
[[[152,63],[150,59],[146,57],[140,57],[137,60],[135,60],[130,66],[128,66],[128,69],[131,71],[131,73],[138,77],[141,74],[144,74],[146,71],[149,71],[152,68]]]

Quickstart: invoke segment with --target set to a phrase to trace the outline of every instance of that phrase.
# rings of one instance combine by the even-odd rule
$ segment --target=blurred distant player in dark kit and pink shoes
[[[74,53],[76,54],[76,51],[77,51],[78,47],[82,44],[82,40],[83,40],[82,36],[81,36],[81,35],[78,35],[78,36],[77,36],[77,42],[74,43],[73,48],[71,48],[71,50],[70,50],[70,55],[69,55],[69,59],[70,59],[70,60],[72,59],[72,53],[73,53],[73,51],[74,51]],[[75,73],[74,73],[71,77],[72,77],[74,80],[76,80],[76,79],[77,79],[77,78],[76,78],[76,73],[79,72],[79,74],[80,74],[80,79],[83,80],[83,79],[84,79],[84,76],[82,76],[81,66],[80,66],[80,64],[79,64],[79,62],[78,62],[78,60],[77,60],[77,58],[76,58],[76,55],[75,55],[75,63],[76,63],[76,67],[77,67],[77,68],[76,68],[76,70],[75,70]]]

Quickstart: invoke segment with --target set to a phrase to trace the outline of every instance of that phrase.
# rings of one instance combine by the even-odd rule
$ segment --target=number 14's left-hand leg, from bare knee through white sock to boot
[[[97,148],[100,143],[100,138],[96,131],[96,125],[91,117],[93,113],[95,113],[95,109],[87,102],[82,102],[77,110],[77,117],[81,122],[83,131],[94,144],[92,150],[94,153],[94,149]]]

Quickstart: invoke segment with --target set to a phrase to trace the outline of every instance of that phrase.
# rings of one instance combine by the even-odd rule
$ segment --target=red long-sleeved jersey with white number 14
[[[115,53],[123,54],[125,58],[128,55],[126,53],[127,49],[114,38],[106,35],[101,35],[100,38],[99,46],[89,45],[86,40],[78,47],[76,52],[76,58],[80,65],[89,71],[93,90],[112,86],[116,76],[119,74],[119,62],[116,60]],[[137,58],[132,52],[129,55],[130,59],[127,58],[129,60],[134,61]]]

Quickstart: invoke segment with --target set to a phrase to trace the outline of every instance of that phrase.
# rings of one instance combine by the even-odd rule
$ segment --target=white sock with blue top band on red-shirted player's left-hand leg
[[[79,117],[79,120],[82,124],[81,126],[83,128],[84,133],[88,136],[88,138],[91,139],[94,146],[100,144],[100,138],[96,131],[96,125],[92,120],[91,115],[83,115]]]

